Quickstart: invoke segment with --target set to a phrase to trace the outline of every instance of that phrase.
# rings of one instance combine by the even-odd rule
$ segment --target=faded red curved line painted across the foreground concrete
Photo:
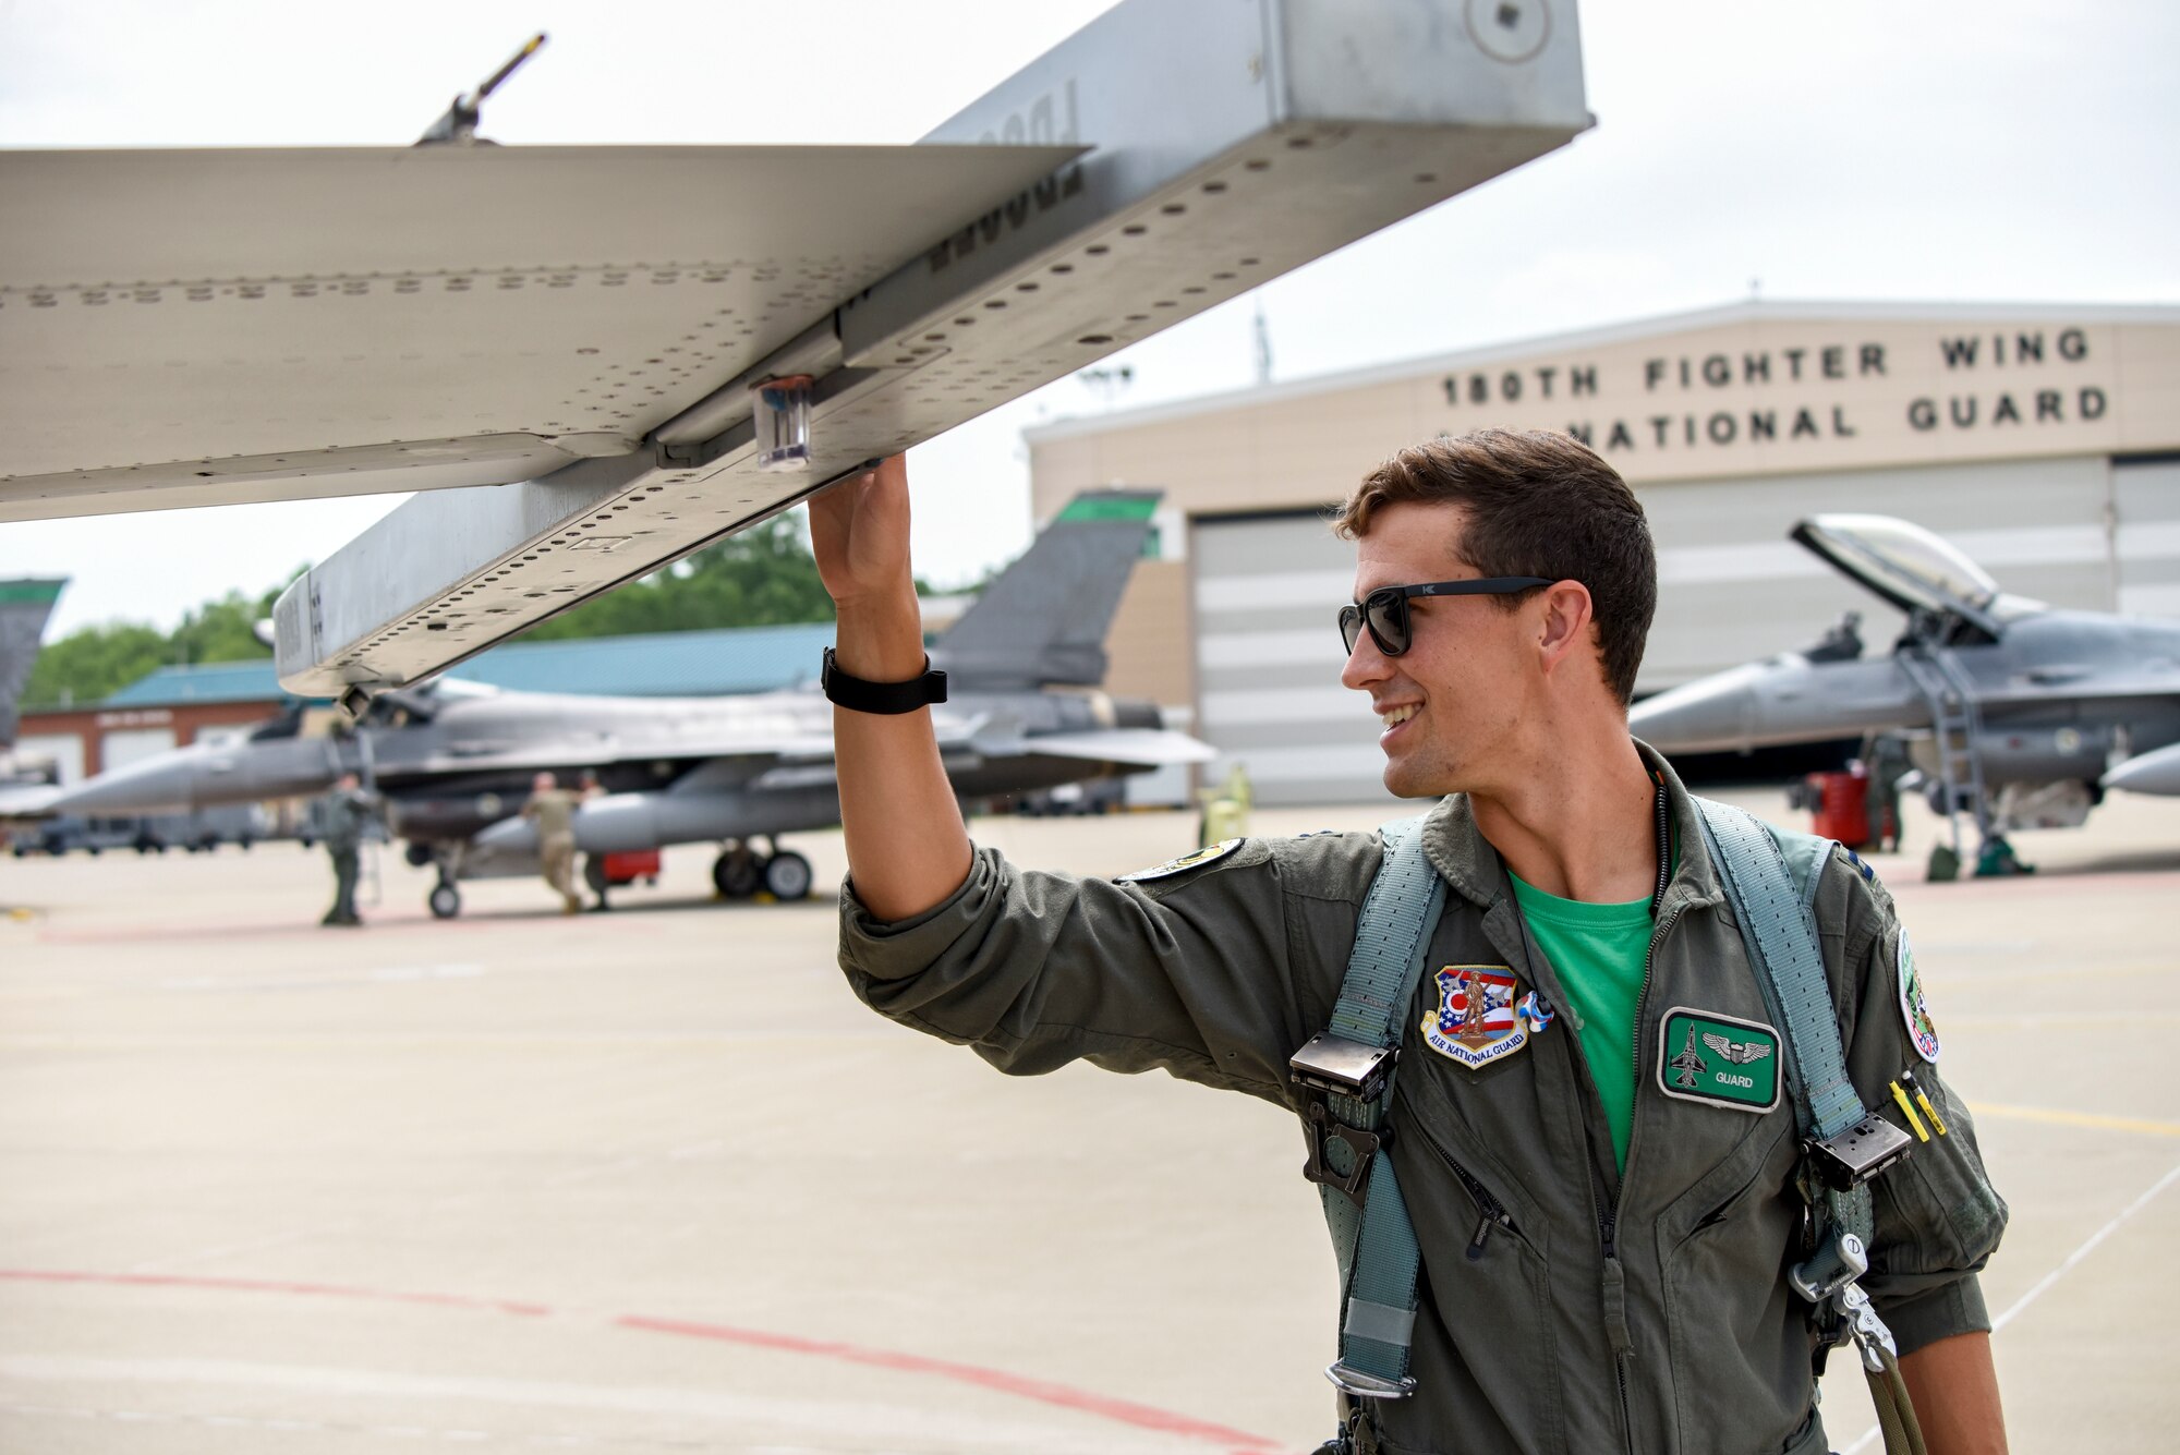
[[[283,1283],[272,1279],[216,1279],[198,1274],[126,1274],[126,1272],[109,1274],[109,1272],[83,1272],[63,1268],[0,1268],[0,1281],[98,1283],[98,1285],[124,1285],[124,1287],[185,1287],[185,1289],[214,1289],[227,1294],[296,1294],[305,1298],[368,1298],[373,1303],[410,1303],[410,1305],[429,1305],[440,1309],[473,1309],[488,1313],[510,1313],[517,1318],[556,1316],[556,1311],[547,1305],[519,1303],[510,1298],[471,1298],[462,1294],[405,1294],[392,1289],[349,1287],[340,1283]],[[1040,1405],[1053,1405],[1057,1409],[1073,1409],[1077,1414],[1099,1416],[1116,1425],[1134,1425],[1136,1429],[1149,1429],[1166,1435],[1208,1440],[1227,1446],[1232,1455],[1249,1455],[1254,1451],[1280,1448],[1277,1440],[1267,1440],[1264,1435],[1251,1435],[1240,1429],[1227,1429],[1225,1425],[1197,1420],[1192,1416],[1175,1414],[1171,1409],[1136,1405],[1105,1394],[1092,1394],[1090,1390],[1077,1390],[1073,1385],[1055,1383],[1051,1379],[1009,1374],[1007,1370],[992,1370],[979,1364],[955,1364],[953,1359],[931,1359],[927,1355],[907,1355],[892,1348],[865,1348],[861,1344],[844,1344],[837,1340],[811,1340],[794,1333],[767,1333],[763,1329],[737,1329],[732,1324],[700,1324],[678,1318],[650,1318],[643,1313],[623,1313],[619,1318],[613,1318],[610,1324],[615,1329],[667,1333],[685,1340],[743,1344],[750,1348],[767,1348],[776,1353],[837,1359],[841,1364],[861,1364],[868,1368],[896,1370],[903,1374],[931,1374],[937,1379],[953,1379],[957,1383],[977,1385],[979,1390],[992,1390],[998,1394],[1027,1398]]]

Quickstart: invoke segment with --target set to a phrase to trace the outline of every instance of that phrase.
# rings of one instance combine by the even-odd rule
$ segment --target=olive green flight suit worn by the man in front
[[[1393,1165],[1424,1252],[1417,1392],[1378,1407],[1395,1455],[1827,1448],[1807,1305],[1785,1285],[1803,1257],[1792,1098],[1757,1113],[1663,1093],[1661,1061],[1679,1050],[1661,1048],[1672,1008],[1772,1019],[1694,806],[1650,762],[1666,773],[1679,867],[1637,1008],[1624,1178],[1565,1019],[1482,1069],[1424,1043],[1441,965],[1509,967],[1515,995],[1570,1004],[1552,967],[1526,952],[1467,799],[1445,799],[1424,828],[1450,893],[1406,1015],[1391,1111]],[[970,1043],[1003,1072],[1075,1059],[1162,1067],[1297,1111],[1286,1059],[1332,1017],[1380,856],[1376,834],[1249,839],[1182,873],[1105,882],[979,849],[950,900],[900,924],[874,921],[844,887],[839,958],[872,1008]],[[1862,1283],[1901,1353],[1988,1329],[1975,1272],[2006,1205],[1966,1106],[1908,1037],[1892,902],[1833,852],[1816,917],[1864,1104],[1890,1106],[1888,1083],[1914,1067],[1949,1128],[1873,1183]],[[1487,1218],[1493,1205],[1504,1220]],[[1325,1331],[1330,1346],[1332,1309]]]

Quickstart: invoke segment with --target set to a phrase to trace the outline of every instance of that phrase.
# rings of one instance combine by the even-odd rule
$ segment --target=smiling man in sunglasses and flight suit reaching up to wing
[[[1445,882],[1386,1148],[1421,1248],[1415,1392],[1356,1401],[1343,1448],[1831,1448],[1814,1305],[1785,1285],[1812,1202],[1781,1028],[1692,799],[1626,730],[1657,592],[1642,508],[1567,436],[1480,431],[1376,468],[1339,529],[1341,680],[1386,786],[1443,795],[1421,845]],[[1162,1067],[1304,1111],[1288,1056],[1328,1026],[1380,836],[1219,843],[1118,882],[974,847],[929,712],[903,710],[933,697],[903,464],[818,497],[811,540],[839,608],[857,995],[1005,1072]],[[2003,1451],[1975,1274],[2006,1207],[1890,897],[1833,849],[1814,910],[1853,1091],[1929,1113],[1873,1183],[1862,1289],[1929,1451]]]

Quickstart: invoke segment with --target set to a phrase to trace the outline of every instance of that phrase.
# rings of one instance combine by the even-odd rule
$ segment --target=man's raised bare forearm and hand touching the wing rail
[[[833,660],[868,682],[924,671],[909,571],[909,470],[900,455],[811,501],[818,575],[839,612]],[[909,919],[968,878],[961,808],[940,765],[931,708],[898,717],[833,708],[839,817],[855,895],[879,919]]]

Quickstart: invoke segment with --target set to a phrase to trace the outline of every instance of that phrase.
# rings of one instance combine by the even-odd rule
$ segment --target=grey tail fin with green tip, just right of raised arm
[[[1086,490],[931,653],[957,686],[1033,690],[1105,680],[1105,632],[1151,538],[1158,490]]]

